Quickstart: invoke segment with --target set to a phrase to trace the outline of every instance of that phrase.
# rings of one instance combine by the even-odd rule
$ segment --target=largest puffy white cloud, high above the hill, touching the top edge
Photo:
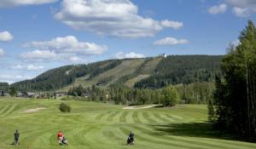
[[[130,0],[63,0],[55,19],[77,30],[114,37],[153,37],[165,27],[183,26],[172,20],[144,18]]]

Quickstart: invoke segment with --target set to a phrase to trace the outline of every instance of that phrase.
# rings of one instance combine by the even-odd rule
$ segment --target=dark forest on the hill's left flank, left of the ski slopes
[[[95,77],[99,73],[118,66],[120,62],[120,60],[105,60],[88,65],[61,66],[44,72],[31,80],[14,83],[11,86],[32,91],[61,89],[65,85],[73,83],[77,77],[84,77],[85,75],[90,75],[90,78]]]

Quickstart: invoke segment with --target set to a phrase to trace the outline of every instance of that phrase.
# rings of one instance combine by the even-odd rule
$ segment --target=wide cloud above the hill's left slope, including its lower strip
[[[32,52],[26,52],[20,55],[25,60],[61,60],[70,59],[71,61],[78,60],[76,55],[95,55],[102,54],[108,47],[105,45],[97,45],[96,43],[79,42],[76,37],[56,37],[50,41],[30,42],[23,44],[26,48],[35,48]]]

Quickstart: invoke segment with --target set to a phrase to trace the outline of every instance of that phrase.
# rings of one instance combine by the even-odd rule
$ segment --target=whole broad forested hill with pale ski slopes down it
[[[31,91],[62,90],[82,85],[159,89],[168,84],[212,82],[223,56],[170,55],[143,59],[104,60],[88,65],[61,66],[31,80],[13,83]]]

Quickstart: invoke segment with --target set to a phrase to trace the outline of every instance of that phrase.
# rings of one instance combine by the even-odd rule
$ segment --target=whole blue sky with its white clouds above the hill
[[[158,54],[225,54],[255,0],[0,0],[0,82]]]

